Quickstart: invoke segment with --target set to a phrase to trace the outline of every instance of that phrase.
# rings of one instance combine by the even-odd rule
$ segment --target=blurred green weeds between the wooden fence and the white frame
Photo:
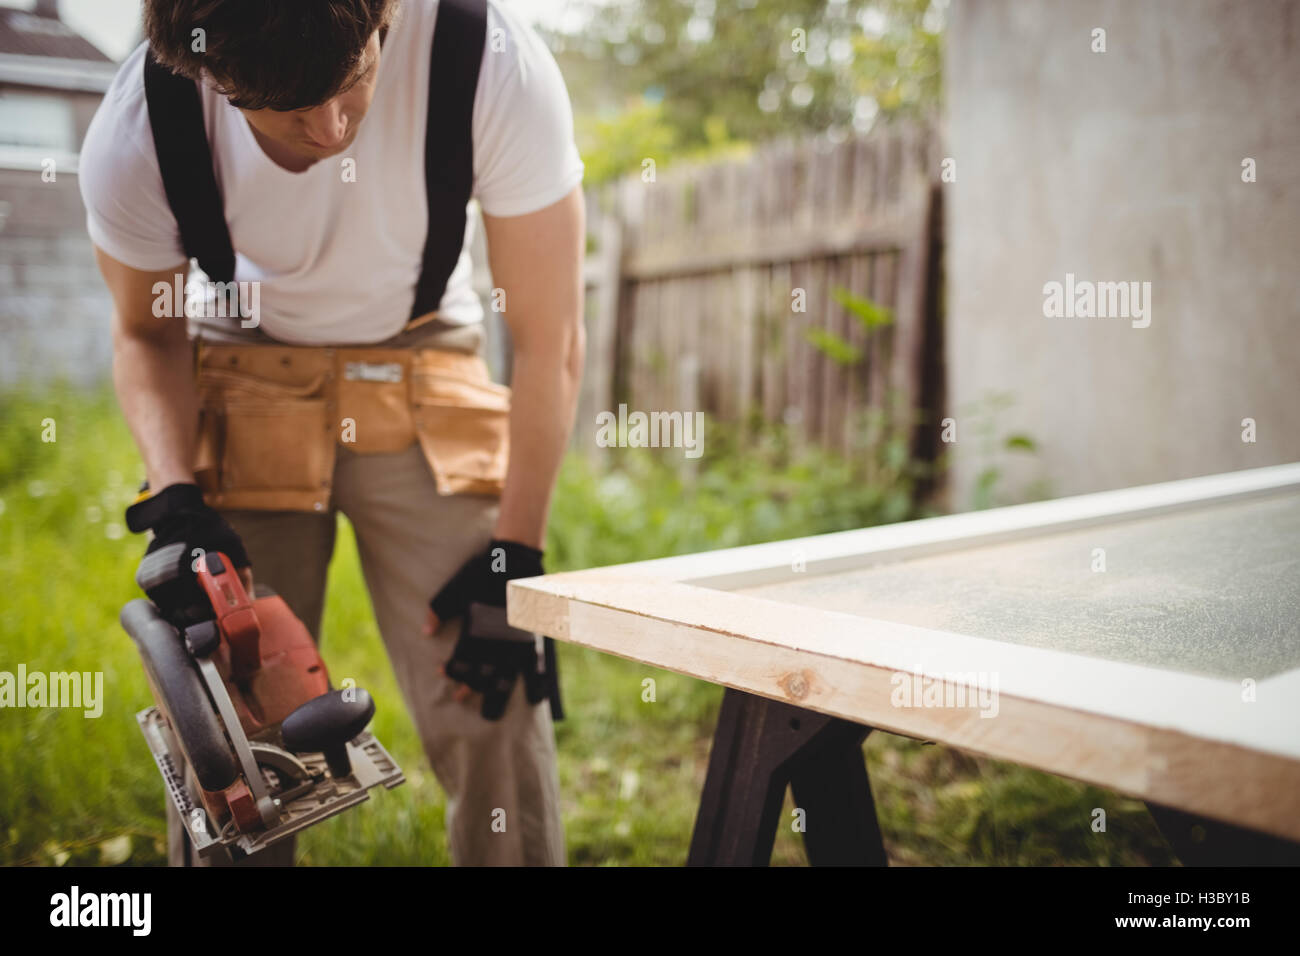
[[[844,457],[784,425],[710,423],[696,463],[679,449],[601,449],[599,466],[571,455],[549,561],[555,570],[618,564],[918,516],[926,470],[907,459],[905,436],[880,414],[863,418],[861,434],[863,450]]]

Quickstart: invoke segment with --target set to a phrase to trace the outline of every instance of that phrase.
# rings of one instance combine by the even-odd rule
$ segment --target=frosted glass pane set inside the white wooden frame
[[[1105,571],[1093,571],[1095,549]],[[1300,494],[738,593],[1219,678],[1300,667]]]

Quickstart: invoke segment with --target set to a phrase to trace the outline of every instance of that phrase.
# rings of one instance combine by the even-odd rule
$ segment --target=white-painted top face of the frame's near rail
[[[646,583],[607,575],[547,575],[511,583],[516,593],[543,594],[538,605],[520,602],[519,627],[546,632],[568,627],[566,602],[604,607],[642,624],[673,624],[734,641],[733,657],[760,659],[775,649],[816,654],[844,666],[867,665],[890,672],[968,675],[1023,700],[1093,713],[1128,723],[1164,727],[1205,741],[1222,741],[1300,760],[1300,671],[1258,682],[1253,702],[1235,680],[1150,667],[1126,661],[1035,648],[987,637],[880,620],[768,598],[711,591],[677,581]],[[533,607],[545,610],[533,610]],[[558,636],[551,633],[551,636]],[[637,645],[641,646],[641,645]],[[620,653],[618,646],[602,650]],[[682,661],[689,661],[684,650]],[[624,657],[636,658],[634,653]],[[708,679],[707,674],[693,674]],[[1179,706],[1190,696],[1200,705]]]

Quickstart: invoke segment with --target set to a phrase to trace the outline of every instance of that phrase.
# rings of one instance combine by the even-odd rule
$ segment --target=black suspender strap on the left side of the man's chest
[[[235,250],[230,245],[221,191],[212,169],[199,87],[162,66],[153,59],[153,51],[147,49],[144,99],[150,108],[162,189],[181,226],[185,254],[198,259],[199,267],[213,282],[231,282],[235,277]]]

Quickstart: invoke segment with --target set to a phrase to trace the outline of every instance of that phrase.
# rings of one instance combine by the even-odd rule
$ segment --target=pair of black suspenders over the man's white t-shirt
[[[424,140],[429,233],[412,319],[438,308],[464,243],[465,204],[474,177],[471,120],[486,34],[486,0],[438,0]],[[181,228],[185,254],[198,259],[213,282],[230,282],[235,251],[203,126],[198,86],[161,66],[150,49],[144,56],[144,98],[162,189]]]

